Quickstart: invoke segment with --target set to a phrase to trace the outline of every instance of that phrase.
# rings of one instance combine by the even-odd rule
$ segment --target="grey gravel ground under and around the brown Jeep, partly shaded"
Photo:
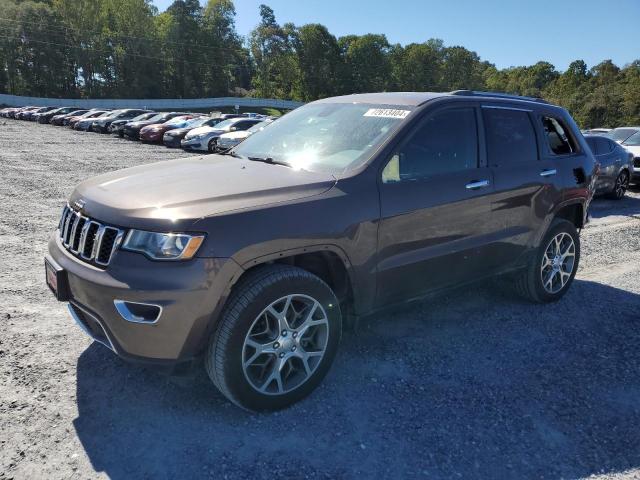
[[[561,302],[491,284],[379,315],[252,415],[92,344],[44,284],[78,181],[189,155],[0,121],[0,479],[640,477],[640,191],[594,203]]]

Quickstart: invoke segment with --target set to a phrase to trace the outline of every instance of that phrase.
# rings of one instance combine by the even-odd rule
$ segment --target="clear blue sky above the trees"
[[[154,3],[164,10],[172,0]],[[640,0],[235,0],[238,33],[259,22],[261,3],[280,24],[322,23],[338,37],[384,33],[403,45],[441,38],[499,68],[640,59]]]

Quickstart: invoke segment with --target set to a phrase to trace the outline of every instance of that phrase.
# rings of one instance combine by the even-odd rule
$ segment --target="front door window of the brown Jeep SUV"
[[[473,108],[430,115],[385,167],[383,182],[410,181],[478,167],[478,130]]]

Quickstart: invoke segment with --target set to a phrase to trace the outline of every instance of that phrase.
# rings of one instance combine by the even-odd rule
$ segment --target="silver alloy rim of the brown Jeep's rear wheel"
[[[564,288],[576,263],[576,245],[571,235],[560,232],[551,239],[542,257],[540,275],[544,289],[556,294]]]

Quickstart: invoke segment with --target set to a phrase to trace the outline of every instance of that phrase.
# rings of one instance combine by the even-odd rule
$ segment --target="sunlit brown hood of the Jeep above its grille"
[[[69,204],[122,227],[188,228],[200,218],[298,200],[329,190],[326,173],[208,155],[99,175],[74,190]]]

